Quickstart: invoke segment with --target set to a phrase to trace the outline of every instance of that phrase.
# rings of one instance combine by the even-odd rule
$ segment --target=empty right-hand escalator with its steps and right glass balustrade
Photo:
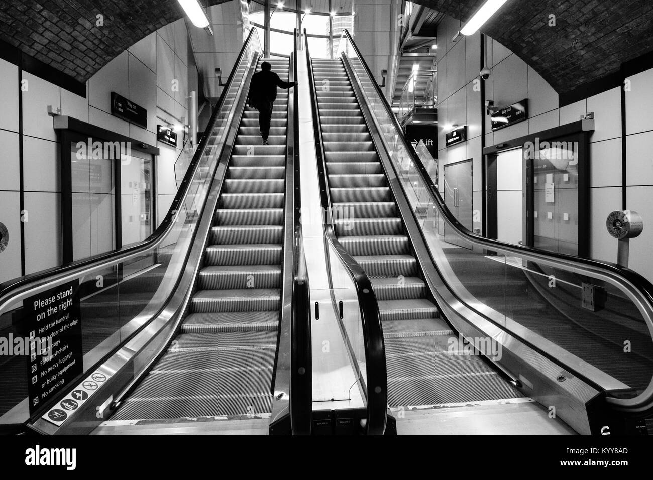
[[[341,257],[374,290],[374,300],[359,295],[360,310],[377,306],[389,408],[535,401],[535,431],[646,434],[653,285],[614,264],[468,231],[349,32],[338,59],[309,63],[323,207]],[[554,430],[547,411],[562,421]]]

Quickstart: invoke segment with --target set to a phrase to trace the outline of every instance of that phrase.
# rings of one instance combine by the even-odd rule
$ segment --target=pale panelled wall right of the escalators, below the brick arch
[[[443,166],[473,159],[476,177],[481,172],[481,116],[485,121],[485,146],[577,121],[594,112],[594,133],[590,136],[590,256],[616,261],[616,240],[605,229],[605,218],[622,208],[622,140],[620,89],[588,97],[559,108],[558,94],[517,55],[493,39],[486,38],[486,63],[492,75],[485,82],[485,98],[505,106],[524,98],[529,102],[529,120],[492,133],[490,120],[475,91],[480,65],[480,35],[463,37],[455,44],[452,37],[460,22],[445,18],[438,26],[438,157],[439,174]],[[628,208],[640,213],[653,210],[653,70],[633,76],[626,92],[627,189]],[[445,132],[451,125],[468,125],[466,150],[461,146],[442,148]],[[477,138],[478,137],[478,138]],[[464,152],[464,153],[462,153]],[[474,208],[480,208],[482,185],[474,178]],[[442,188],[442,185],[440,185]],[[653,221],[653,217],[651,218]],[[474,228],[480,228],[474,225]],[[631,268],[653,279],[653,256],[646,246],[653,243],[653,229],[631,242]]]

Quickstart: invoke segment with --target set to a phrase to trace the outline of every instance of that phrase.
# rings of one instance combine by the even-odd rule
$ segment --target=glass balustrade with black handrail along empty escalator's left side
[[[307,34],[304,30],[304,38]],[[335,220],[327,181],[326,157],[319,119],[313,62],[306,45],[306,60],[311,91],[313,111],[313,135],[317,153],[317,168],[321,190],[321,203],[325,216],[325,251],[327,254],[327,274],[332,291],[332,304],[336,318],[341,319],[345,334],[345,344],[350,351],[354,367],[362,384],[364,401],[367,407],[365,431],[368,435],[383,435],[387,421],[387,371],[385,364],[385,345],[381,317],[372,282],[360,265],[338,242],[335,234]],[[346,46],[343,46],[346,48]],[[338,292],[341,298],[335,298]],[[342,302],[342,313],[340,312]]]

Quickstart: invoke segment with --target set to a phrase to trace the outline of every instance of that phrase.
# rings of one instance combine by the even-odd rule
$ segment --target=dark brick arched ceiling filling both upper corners
[[[208,5],[225,1],[208,0]],[[415,1],[462,21],[483,2]],[[95,25],[99,14],[103,27]],[[556,27],[548,25],[550,14],[556,15]],[[0,39],[84,82],[182,16],[176,0],[0,0]],[[564,93],[653,50],[653,1],[509,0],[482,31]]]

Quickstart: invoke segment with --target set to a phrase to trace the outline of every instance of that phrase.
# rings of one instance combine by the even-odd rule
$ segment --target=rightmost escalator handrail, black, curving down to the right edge
[[[640,313],[643,315],[643,319],[646,322],[649,332],[653,336],[653,284],[650,281],[646,280],[643,276],[637,272],[630,270],[624,266],[618,264],[609,263],[605,261],[599,261],[595,259],[584,259],[581,257],[573,257],[571,255],[565,255],[564,253],[555,253],[542,251],[535,248],[530,248],[521,245],[506,244],[500,240],[494,240],[492,238],[485,238],[479,234],[468,231],[456,218],[451,214],[449,208],[445,205],[444,201],[441,199],[441,196],[434,184],[432,178],[428,174],[428,170],[424,167],[419,156],[413,152],[413,148],[406,142],[406,138],[402,135],[402,127],[399,124],[396,116],[392,112],[392,107],[387,101],[385,95],[379,88],[377,82],[375,82],[374,74],[370,70],[370,67],[366,63],[364,57],[360,53],[357,44],[354,42],[351,34],[347,29],[343,31],[343,35],[347,37],[347,40],[353,46],[358,60],[360,61],[362,67],[368,74],[370,80],[372,80],[373,88],[375,89],[377,96],[381,99],[383,107],[385,108],[389,118],[392,119],[392,123],[397,131],[400,141],[404,145],[404,151],[409,152],[411,155],[411,160],[414,165],[417,167],[417,170],[420,173],[422,181],[428,187],[428,194],[430,199],[434,202],[439,210],[439,214],[443,217],[445,223],[449,225],[458,236],[461,236],[471,244],[480,246],[483,249],[490,251],[503,251],[507,253],[512,253],[518,257],[524,259],[543,263],[552,263],[555,262],[558,264],[558,268],[565,268],[571,272],[579,275],[590,276],[593,278],[600,278],[601,280],[606,280],[609,283],[616,283],[619,285],[626,293],[629,293],[628,297],[635,306],[639,309]],[[341,42],[342,43],[342,42]],[[562,266],[562,267],[561,267]],[[646,405],[647,408],[653,406],[653,377],[648,387],[645,391],[641,392],[639,395],[634,396],[633,398],[616,398],[608,397],[608,402],[615,404],[621,408],[640,408],[642,405]]]

